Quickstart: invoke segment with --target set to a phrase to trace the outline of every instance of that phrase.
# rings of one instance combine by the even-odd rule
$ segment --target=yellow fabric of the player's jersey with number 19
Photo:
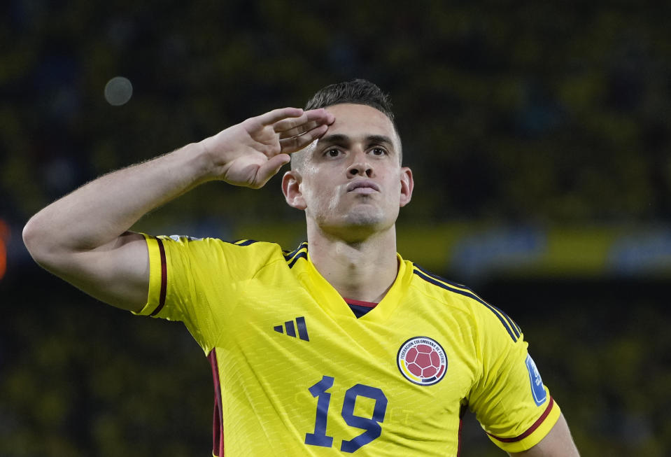
[[[204,353],[216,352],[226,455],[335,456],[359,446],[358,456],[455,456],[462,405],[504,439],[523,435],[549,405],[549,393],[542,405],[532,398],[527,343],[516,325],[400,255],[386,297],[357,319],[317,272],[306,244],[288,255],[264,242],[159,238],[167,293],[156,316],[183,321]],[[160,305],[162,268],[157,240],[146,239],[143,315]],[[435,384],[411,382],[409,368],[402,374],[397,363],[415,337],[444,350],[446,371]],[[528,449],[558,415],[555,404],[523,440],[493,442]]]

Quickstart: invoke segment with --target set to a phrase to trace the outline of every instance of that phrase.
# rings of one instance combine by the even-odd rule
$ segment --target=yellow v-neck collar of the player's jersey
[[[408,260],[403,260],[401,255],[397,253],[396,258],[399,267],[394,283],[374,309],[364,316],[356,318],[344,298],[341,297],[338,291],[331,286],[320,272],[318,272],[317,268],[312,263],[307,244],[301,244],[299,250],[302,251],[302,248],[305,248],[304,252],[306,255],[297,258],[295,265],[292,265],[292,269],[297,269],[297,277],[299,281],[309,294],[312,295],[319,306],[328,314],[337,318],[348,318],[353,319],[354,321],[377,323],[382,323],[388,320],[400,303],[400,298],[405,294],[412,279],[412,263]],[[298,256],[296,255],[296,257]]]

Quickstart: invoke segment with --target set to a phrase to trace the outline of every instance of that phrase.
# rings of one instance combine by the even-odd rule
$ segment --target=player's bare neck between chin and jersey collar
[[[308,225],[310,259],[342,297],[380,302],[398,273],[395,226],[360,241],[333,237]]]

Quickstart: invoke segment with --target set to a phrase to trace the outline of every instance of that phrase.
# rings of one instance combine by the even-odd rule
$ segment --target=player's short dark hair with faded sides
[[[382,92],[380,87],[365,79],[355,79],[344,83],[327,85],[321,88],[305,104],[305,110],[326,108],[338,104],[351,103],[358,105],[367,105],[375,108],[391,121],[396,135],[400,139],[396,122],[394,121],[394,112],[391,110],[391,99],[388,94]],[[400,145],[399,145],[400,146]],[[301,151],[291,155],[291,167],[297,168],[303,157]],[[401,151],[399,150],[399,158]]]

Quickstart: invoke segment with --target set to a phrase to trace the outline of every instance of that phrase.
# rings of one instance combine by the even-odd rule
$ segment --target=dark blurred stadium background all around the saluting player
[[[188,332],[43,272],[22,225],[355,77],[392,94],[414,169],[400,252],[518,321],[585,456],[669,455],[671,8],[487,3],[3,2],[0,456],[208,455],[211,374]],[[276,178],[211,183],[136,228],[291,247],[302,214]],[[464,442],[502,455],[472,417]]]

